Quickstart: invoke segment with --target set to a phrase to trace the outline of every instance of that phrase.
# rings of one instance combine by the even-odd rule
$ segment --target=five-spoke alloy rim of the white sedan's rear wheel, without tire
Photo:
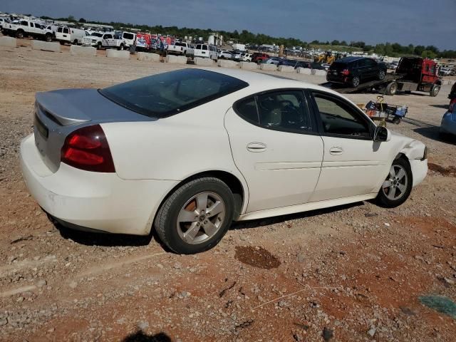
[[[190,198],[177,215],[177,233],[187,244],[200,244],[213,237],[224,222],[225,204],[214,192]]]

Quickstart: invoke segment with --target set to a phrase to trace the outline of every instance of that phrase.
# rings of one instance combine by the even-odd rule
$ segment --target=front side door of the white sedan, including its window
[[[390,170],[390,142],[374,142],[375,125],[340,96],[312,91],[311,99],[324,144],[311,201],[378,192]]]

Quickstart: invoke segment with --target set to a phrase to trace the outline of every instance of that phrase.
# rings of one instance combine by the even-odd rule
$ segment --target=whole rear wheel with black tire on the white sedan
[[[165,200],[155,217],[155,231],[172,251],[195,254],[218,244],[233,214],[234,197],[229,187],[218,178],[197,178]]]

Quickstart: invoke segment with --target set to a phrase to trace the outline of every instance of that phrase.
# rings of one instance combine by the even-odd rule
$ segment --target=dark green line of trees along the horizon
[[[42,19],[52,19],[48,16],[42,16]],[[110,25],[115,28],[115,30],[120,30],[122,28],[135,28],[143,32],[151,32],[151,33],[161,33],[167,34],[170,36],[177,36],[177,37],[189,37],[192,36],[193,38],[202,37],[203,39],[207,39],[209,33],[217,31],[218,33],[224,36],[224,40],[233,40],[239,43],[249,43],[254,45],[262,45],[262,44],[276,44],[276,45],[284,45],[286,47],[291,46],[302,46],[303,48],[311,48],[312,46],[327,46],[328,49],[340,50],[340,51],[350,51],[353,48],[359,48],[362,51],[370,52],[370,53],[377,53],[378,55],[382,56],[391,56],[391,57],[398,57],[398,56],[423,56],[426,58],[456,58],[456,51],[455,50],[444,50],[440,51],[436,46],[423,46],[417,45],[414,46],[413,44],[409,44],[407,46],[403,46],[400,43],[378,43],[375,46],[366,44],[364,41],[318,41],[314,40],[311,42],[301,41],[298,38],[284,38],[284,37],[273,37],[263,33],[252,33],[247,30],[242,30],[241,32],[234,30],[234,31],[219,31],[219,30],[212,30],[212,28],[202,29],[202,28],[187,28],[182,27],[179,28],[177,26],[149,26],[144,24],[131,24],[131,23],[120,23],[116,21],[111,21],[110,23],[100,22],[100,21],[87,21],[84,18],[79,19],[78,21],[74,18],[74,16],[68,16],[68,18],[58,18],[55,20],[60,21],[71,21],[75,24],[78,23],[90,23],[90,24],[102,24],[102,25]]]

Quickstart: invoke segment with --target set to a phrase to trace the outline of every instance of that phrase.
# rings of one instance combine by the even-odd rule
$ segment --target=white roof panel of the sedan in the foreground
[[[259,73],[254,71],[245,71],[242,69],[231,69],[231,68],[202,68],[205,71],[212,71],[213,73],[221,73],[226,76],[231,76],[237,78],[241,81],[249,83],[248,88],[261,88],[264,90],[273,90],[277,88],[307,88],[307,89],[315,89],[315,90],[322,90],[326,93],[333,93],[339,95],[334,90],[316,86],[312,83],[307,83],[303,81],[297,81],[291,78],[286,78],[283,76],[275,76],[269,75],[266,73]],[[262,90],[259,90],[262,91]]]

